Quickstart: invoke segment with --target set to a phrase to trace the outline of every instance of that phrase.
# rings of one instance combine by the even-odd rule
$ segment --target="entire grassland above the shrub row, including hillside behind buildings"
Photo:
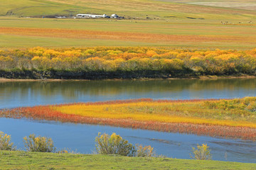
[[[164,46],[252,49],[255,47],[255,10],[231,5],[227,7],[226,4],[218,4],[217,7],[189,4],[194,2],[193,0],[3,0],[0,6],[0,48]],[[227,3],[230,3],[230,0],[227,0]],[[248,3],[254,2],[236,0],[235,3],[248,6]],[[42,18],[42,16],[75,16],[77,13],[108,15],[117,13],[127,19]],[[146,20],[146,17],[149,19]],[[91,32],[87,33],[88,31]]]

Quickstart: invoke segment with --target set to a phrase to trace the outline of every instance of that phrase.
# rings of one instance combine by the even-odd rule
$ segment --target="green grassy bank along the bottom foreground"
[[[255,169],[255,164],[97,154],[0,151],[0,169]]]

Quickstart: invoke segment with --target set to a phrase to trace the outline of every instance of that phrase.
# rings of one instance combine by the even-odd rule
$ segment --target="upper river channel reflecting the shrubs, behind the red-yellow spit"
[[[256,79],[0,81],[0,108],[127,98],[190,99],[256,96]]]

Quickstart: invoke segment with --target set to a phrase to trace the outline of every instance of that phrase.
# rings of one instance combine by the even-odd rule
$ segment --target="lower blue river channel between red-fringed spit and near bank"
[[[215,137],[183,135],[149,130],[132,130],[101,125],[73,123],[36,122],[29,120],[0,119],[0,130],[11,134],[18,148],[23,148],[22,138],[32,133],[52,137],[55,147],[69,148],[80,153],[90,154],[95,148],[98,132],[116,132],[133,145],[151,145],[157,154],[166,157],[190,159],[191,148],[207,143],[214,160],[256,163],[256,142],[225,140]]]

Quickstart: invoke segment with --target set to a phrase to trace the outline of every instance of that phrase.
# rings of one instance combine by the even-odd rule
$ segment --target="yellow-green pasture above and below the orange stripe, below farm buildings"
[[[256,47],[256,28],[254,23],[248,23],[239,18],[230,20],[223,25],[221,19],[194,20],[188,18],[173,18],[169,21],[130,21],[112,19],[54,19],[54,18],[17,18],[0,17],[0,28],[54,28],[68,30],[97,30],[111,33],[149,33],[151,35],[203,35],[216,38],[215,41],[169,41],[156,40],[102,40],[82,38],[60,38],[38,35],[15,35],[0,32],[0,48],[23,47],[91,47],[91,46],[155,46],[178,48],[220,48],[220,49],[252,49]],[[256,20],[255,20],[256,21]],[[255,22],[256,23],[256,22]],[[226,40],[218,41],[218,36],[228,36]],[[238,40],[232,41],[229,38]]]

